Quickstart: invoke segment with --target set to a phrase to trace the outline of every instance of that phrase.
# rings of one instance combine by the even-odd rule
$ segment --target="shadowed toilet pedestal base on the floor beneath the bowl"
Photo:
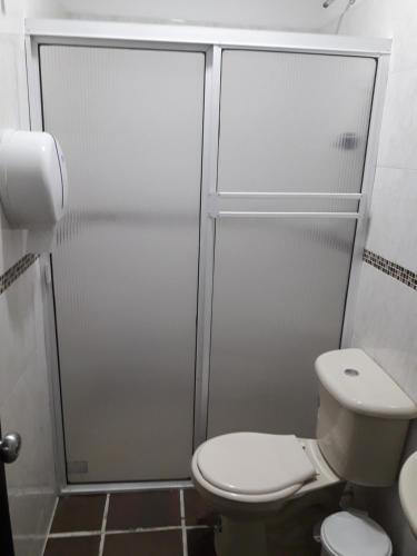
[[[265,522],[221,516],[215,548],[217,556],[268,556]]]

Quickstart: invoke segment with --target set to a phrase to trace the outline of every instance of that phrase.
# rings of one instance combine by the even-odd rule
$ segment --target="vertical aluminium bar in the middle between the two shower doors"
[[[220,119],[221,48],[214,46],[206,58],[205,119],[202,142],[200,261],[196,350],[195,448],[207,437],[211,302],[216,222],[209,216],[210,197],[217,188]]]

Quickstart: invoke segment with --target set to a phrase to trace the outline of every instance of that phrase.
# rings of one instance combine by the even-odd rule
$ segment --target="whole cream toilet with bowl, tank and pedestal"
[[[196,450],[192,480],[221,516],[218,556],[268,555],[266,519],[295,497],[346,480],[396,480],[414,401],[360,349],[329,351],[315,366],[317,439],[232,433]]]

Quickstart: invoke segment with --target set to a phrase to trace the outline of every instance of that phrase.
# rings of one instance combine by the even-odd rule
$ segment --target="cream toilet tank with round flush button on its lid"
[[[342,479],[391,485],[416,404],[361,349],[340,349],[316,360],[320,405],[317,439]]]

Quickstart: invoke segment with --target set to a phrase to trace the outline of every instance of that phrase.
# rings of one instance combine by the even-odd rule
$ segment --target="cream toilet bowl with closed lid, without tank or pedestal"
[[[341,481],[317,440],[260,433],[207,440],[192,457],[191,477],[221,515],[240,519],[268,515],[290,498]]]

